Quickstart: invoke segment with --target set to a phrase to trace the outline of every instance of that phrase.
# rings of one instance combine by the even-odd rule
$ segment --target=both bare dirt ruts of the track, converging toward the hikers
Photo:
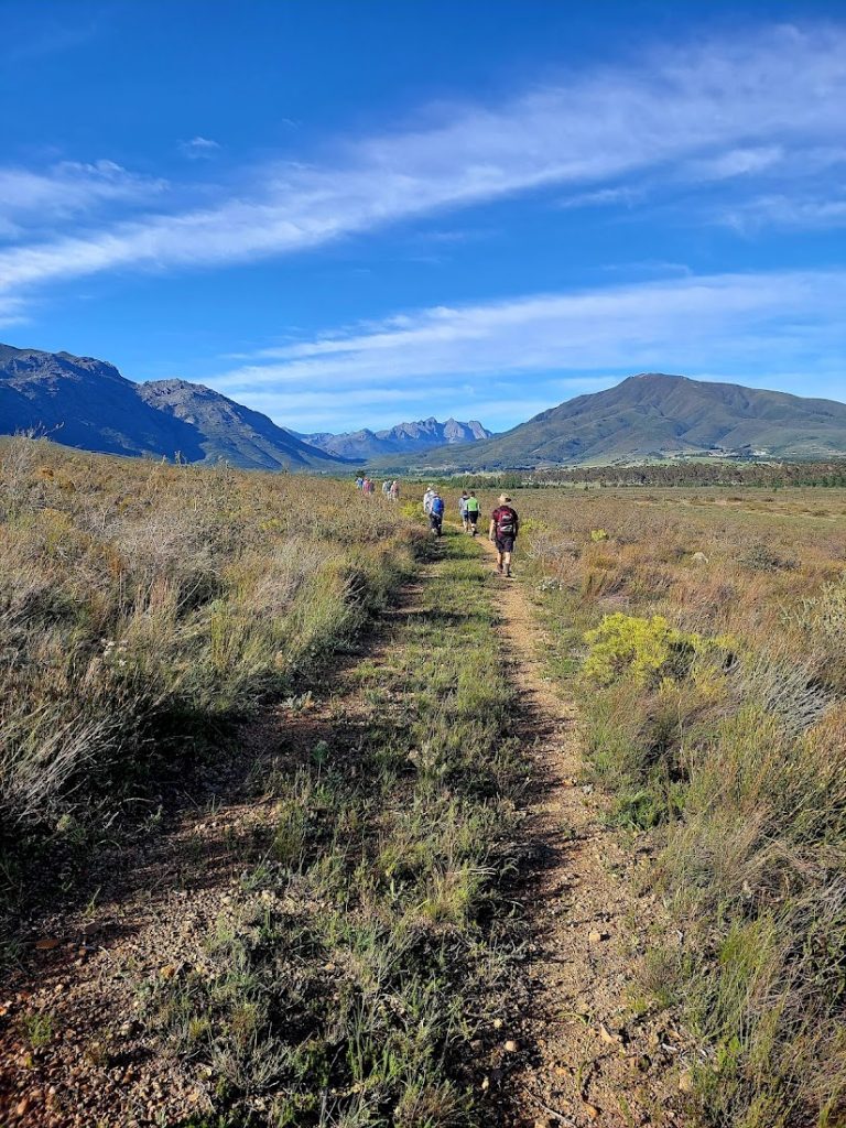
[[[502,999],[504,1029],[483,1032],[467,1083],[482,1095],[486,1128],[681,1122],[672,1109],[678,1090],[666,1076],[680,1054],[679,1036],[666,1021],[632,1021],[623,995],[652,911],[634,891],[636,857],[602,826],[602,801],[582,782],[575,711],[544,673],[545,636],[521,582],[496,576],[485,538],[477,555],[458,536],[448,531],[395,606],[314,693],[245,725],[232,758],[214,766],[200,792],[184,795],[156,834],[99,856],[88,906],[33,914],[28,968],[0,997],[3,1128],[176,1126],[209,1114],[210,1074],[147,1037],[136,1017],[139,990],[206,966],[210,929],[228,926],[245,896],[245,874],[279,825],[279,800],[263,783],[268,774],[308,761],[323,741],[341,740],[354,756],[374,719],[385,720],[379,708],[407,724],[414,689],[374,712],[356,669],[368,664],[378,675],[373,685],[390,686],[415,623],[434,614],[428,584],[443,582],[455,548],[485,573],[500,616],[500,661],[518,689],[518,735],[534,760],[520,828],[529,863],[513,890],[529,957],[515,970],[523,982],[514,1001]],[[389,728],[386,734],[387,748]]]

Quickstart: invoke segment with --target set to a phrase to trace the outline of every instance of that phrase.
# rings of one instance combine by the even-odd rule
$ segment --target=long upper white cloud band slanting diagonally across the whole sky
[[[750,153],[760,164],[799,143],[835,147],[846,127],[846,29],[779,27],[667,50],[636,69],[567,78],[494,107],[442,106],[434,116],[341,143],[325,164],[253,170],[258,193],[15,247],[0,254],[0,289],[115,267],[291,254],[549,186],[601,191],[624,176],[707,159],[716,161],[712,175],[721,161],[723,175],[738,175],[743,160],[755,161]]]

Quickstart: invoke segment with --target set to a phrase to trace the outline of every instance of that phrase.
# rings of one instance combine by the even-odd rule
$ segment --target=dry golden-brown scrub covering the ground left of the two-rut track
[[[349,640],[420,536],[331,481],[0,447],[5,893]]]

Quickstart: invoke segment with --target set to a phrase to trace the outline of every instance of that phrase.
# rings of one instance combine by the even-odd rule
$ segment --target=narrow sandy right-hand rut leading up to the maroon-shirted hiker
[[[493,545],[481,543],[495,558]],[[576,711],[544,672],[548,641],[523,587],[500,582],[521,731],[536,765],[528,810],[536,865],[525,899],[536,948],[518,1123],[680,1125],[680,1036],[666,1019],[633,1021],[625,998],[654,898],[637,896],[634,851],[603,826],[602,799],[583,782]]]

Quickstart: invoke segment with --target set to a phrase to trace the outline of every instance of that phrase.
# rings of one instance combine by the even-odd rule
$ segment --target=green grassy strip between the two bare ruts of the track
[[[141,992],[233,1123],[481,1122],[470,1065],[503,1013],[525,767],[476,553],[444,550],[332,735],[262,782],[275,831],[200,958]]]

